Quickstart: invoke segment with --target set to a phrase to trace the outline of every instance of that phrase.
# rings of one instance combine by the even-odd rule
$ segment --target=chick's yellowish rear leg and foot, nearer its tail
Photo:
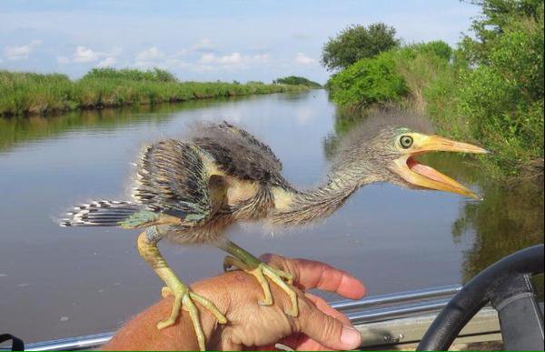
[[[189,312],[191,320],[193,322],[193,328],[195,335],[197,336],[197,342],[200,349],[205,350],[205,338],[203,334],[203,328],[201,327],[201,321],[199,319],[199,312],[195,307],[193,301],[198,302],[203,307],[208,309],[210,313],[218,320],[218,323],[225,324],[227,318],[216,308],[212,302],[204,297],[201,297],[193,293],[189,287],[185,286],[178,277],[174,274],[173,270],[166,264],[157,242],[161,239],[158,236],[157,229],[151,227],[138,236],[138,252],[144,257],[145,261],[154,269],[155,273],[163,279],[166,287],[163,287],[161,294],[163,297],[173,295],[174,303],[171,310],[170,317],[157,323],[157,328],[162,330],[165,327],[171,327],[176,323],[176,319],[180,315],[180,309],[184,309]]]

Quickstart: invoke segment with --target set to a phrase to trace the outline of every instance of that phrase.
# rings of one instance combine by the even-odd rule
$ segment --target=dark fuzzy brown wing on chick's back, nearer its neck
[[[282,163],[271,147],[240,127],[225,121],[198,126],[192,140],[226,175],[265,185],[283,180]]]

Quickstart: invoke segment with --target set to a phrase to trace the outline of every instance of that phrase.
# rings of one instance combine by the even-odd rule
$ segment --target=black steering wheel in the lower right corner
[[[490,302],[500,317],[505,350],[543,350],[543,313],[530,277],[543,273],[543,245],[530,246],[473,277],[433,320],[419,351],[447,350],[463,327]]]

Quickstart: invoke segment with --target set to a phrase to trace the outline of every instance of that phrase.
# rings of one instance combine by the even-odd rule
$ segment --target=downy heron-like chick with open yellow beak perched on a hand
[[[240,126],[228,122],[201,123],[182,139],[163,139],[144,146],[130,201],[92,201],[67,213],[62,226],[120,226],[142,229],[137,248],[163,279],[163,297],[173,295],[171,314],[157,323],[175,324],[187,310],[201,350],[205,338],[198,303],[220,324],[227,319],[205,297],[174,274],[158,249],[168,238],[175,244],[213,245],[228,253],[223,267],[241,269],[263,288],[259,304],[273,297],[267,278],[290,298],[286,314],[299,314],[292,276],[263,263],[225,236],[237,222],[263,226],[301,226],[326,218],[362,186],[388,182],[411,189],[431,189],[480,199],[469,188],[417,156],[430,152],[485,154],[481,146],[432,134],[421,118],[408,114],[377,114],[342,138],[324,183],[299,189],[282,176],[282,163],[270,146]]]

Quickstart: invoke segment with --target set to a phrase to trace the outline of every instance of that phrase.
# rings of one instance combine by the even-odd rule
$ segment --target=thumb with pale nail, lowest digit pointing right
[[[304,305],[307,311],[300,316],[301,332],[325,347],[332,349],[354,349],[362,344],[360,332],[340,320],[324,314],[314,305]]]

